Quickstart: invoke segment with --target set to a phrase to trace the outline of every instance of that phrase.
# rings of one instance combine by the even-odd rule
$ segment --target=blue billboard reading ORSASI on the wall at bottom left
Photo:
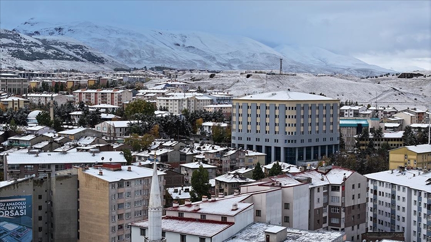
[[[0,197],[0,241],[31,242],[31,195]]]

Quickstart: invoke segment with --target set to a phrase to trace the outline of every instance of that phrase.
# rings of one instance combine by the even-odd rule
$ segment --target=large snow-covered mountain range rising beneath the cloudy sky
[[[13,31],[52,40],[69,37],[113,57],[129,67],[166,65],[211,70],[270,70],[309,73],[344,73],[360,76],[392,73],[358,59],[319,48],[275,49],[243,36],[196,31],[132,31],[91,22],[51,24],[30,19]]]

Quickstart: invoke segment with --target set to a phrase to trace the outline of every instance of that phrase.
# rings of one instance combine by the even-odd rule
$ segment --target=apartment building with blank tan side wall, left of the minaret
[[[78,240],[130,241],[130,223],[148,218],[153,170],[104,163],[78,170]],[[164,204],[164,175],[158,171]]]

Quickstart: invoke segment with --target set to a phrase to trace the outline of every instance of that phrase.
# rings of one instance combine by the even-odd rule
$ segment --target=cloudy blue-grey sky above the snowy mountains
[[[404,71],[431,70],[431,1],[5,1],[0,27],[91,21],[129,29],[243,35],[271,47],[318,46]]]

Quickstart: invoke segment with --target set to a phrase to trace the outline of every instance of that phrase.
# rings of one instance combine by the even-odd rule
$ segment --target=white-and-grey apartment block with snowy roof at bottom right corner
[[[406,242],[431,241],[431,173],[399,169],[369,179],[368,231],[404,232]]]

